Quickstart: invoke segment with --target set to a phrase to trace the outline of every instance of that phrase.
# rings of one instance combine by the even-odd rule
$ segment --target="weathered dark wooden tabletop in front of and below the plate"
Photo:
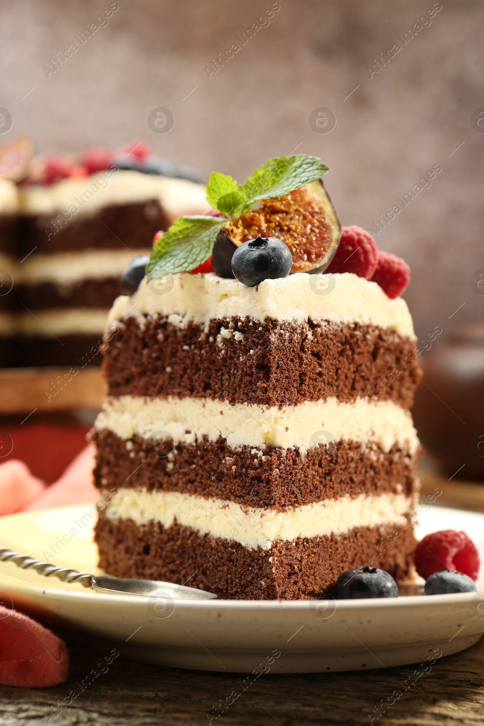
[[[70,674],[57,688],[0,687],[1,726],[118,724],[136,726],[305,726],[313,724],[461,725],[484,723],[484,640],[455,656],[440,658],[427,674],[404,690],[418,666],[369,672],[261,675],[242,691],[239,674],[219,674],[152,666],[116,658],[107,672],[86,685],[102,656],[68,643]],[[410,682],[408,682],[410,683]],[[70,706],[59,708],[71,690]],[[242,691],[218,719],[214,707]],[[395,700],[392,694],[401,692]],[[388,701],[394,700],[393,705]],[[230,699],[229,699],[230,700]],[[376,719],[377,708],[385,713]],[[49,721],[50,719],[50,721]]]

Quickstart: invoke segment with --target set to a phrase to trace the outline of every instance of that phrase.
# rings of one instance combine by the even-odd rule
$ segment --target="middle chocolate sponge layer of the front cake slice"
[[[259,457],[251,446],[235,450],[225,439],[204,439],[177,444],[169,457],[160,458],[139,436],[131,439],[129,450],[108,429],[93,430],[91,439],[97,444],[94,482],[99,489],[184,492],[284,511],[345,495],[411,496],[417,485],[419,452],[410,455],[393,446],[385,453],[370,442],[340,441],[329,456],[327,449],[316,447],[302,459],[295,449],[265,449]]]

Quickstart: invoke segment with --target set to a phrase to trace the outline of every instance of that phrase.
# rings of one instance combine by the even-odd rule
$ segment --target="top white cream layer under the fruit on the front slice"
[[[414,326],[407,304],[402,298],[390,298],[376,282],[356,274],[335,274],[335,288],[327,295],[313,291],[316,275],[303,272],[278,280],[264,280],[257,287],[246,287],[237,280],[225,280],[216,274],[173,276],[173,290],[157,295],[146,279],[128,297],[121,295],[110,311],[110,325],[133,314],[143,322],[147,314],[169,316],[173,325],[188,322],[248,316],[257,322],[266,318],[316,322],[375,325],[414,338]],[[134,312],[132,312],[134,311]]]

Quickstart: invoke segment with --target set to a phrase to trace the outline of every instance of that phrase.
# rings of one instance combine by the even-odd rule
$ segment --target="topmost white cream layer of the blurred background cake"
[[[64,179],[49,187],[20,190],[20,206],[25,214],[64,213],[71,206],[79,214],[93,215],[102,207],[159,200],[170,221],[183,214],[203,214],[210,208],[205,186],[186,179],[141,174],[140,171],[101,171],[85,179]]]

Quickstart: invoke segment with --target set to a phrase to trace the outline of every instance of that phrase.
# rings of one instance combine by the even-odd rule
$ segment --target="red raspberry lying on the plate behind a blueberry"
[[[479,554],[472,539],[465,532],[443,529],[427,534],[417,544],[414,552],[415,567],[421,577],[427,579],[434,572],[446,567],[452,572],[462,572],[477,580]]]

